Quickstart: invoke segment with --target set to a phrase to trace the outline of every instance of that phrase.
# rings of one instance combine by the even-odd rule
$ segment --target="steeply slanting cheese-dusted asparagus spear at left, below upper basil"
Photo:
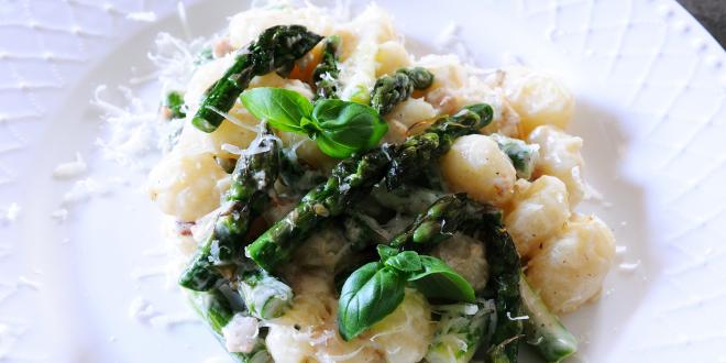
[[[267,131],[270,132],[270,131]],[[230,189],[213,229],[179,278],[179,285],[198,292],[212,288],[222,277],[217,268],[231,265],[241,255],[242,240],[250,222],[267,200],[267,190],[277,178],[279,147],[274,141],[268,150],[242,155],[232,173]]]

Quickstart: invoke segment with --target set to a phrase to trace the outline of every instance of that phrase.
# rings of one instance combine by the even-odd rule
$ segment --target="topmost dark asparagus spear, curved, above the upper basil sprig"
[[[207,91],[191,123],[205,132],[217,130],[223,120],[218,112],[229,111],[252,78],[289,68],[321,38],[301,25],[268,28],[246,50],[238,53],[234,64]]]

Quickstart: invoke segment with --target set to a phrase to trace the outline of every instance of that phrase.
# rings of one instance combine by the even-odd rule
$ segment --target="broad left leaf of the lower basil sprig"
[[[338,300],[338,330],[349,341],[381,321],[404,300],[406,279],[371,262],[348,277]]]

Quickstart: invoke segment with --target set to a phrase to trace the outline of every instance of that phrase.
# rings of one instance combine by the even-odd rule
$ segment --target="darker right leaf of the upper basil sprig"
[[[371,148],[388,131],[386,121],[372,107],[338,99],[316,102],[311,119],[320,130],[316,136],[320,150],[334,157]]]

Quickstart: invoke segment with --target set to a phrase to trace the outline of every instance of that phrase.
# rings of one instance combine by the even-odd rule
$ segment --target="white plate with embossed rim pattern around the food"
[[[432,46],[455,22],[479,65],[519,59],[576,94],[571,131],[585,140],[586,177],[605,200],[581,210],[607,221],[627,246],[617,263],[637,267],[616,266],[601,300],[565,318],[583,341],[573,361],[726,362],[726,55],[701,25],[666,0],[380,4],[410,44]],[[190,30],[211,34],[245,7],[191,3]],[[158,21],[130,19],[148,15],[140,11]],[[164,257],[153,253],[161,233],[144,172],[102,161],[95,145],[94,89],[150,69],[158,31],[184,35],[175,3],[0,2],[0,361],[223,358],[154,274]],[[76,152],[88,170],[53,179]],[[88,177],[109,191],[54,221],[64,194]],[[129,317],[139,297],[154,323]],[[164,319],[177,323],[160,327]]]

